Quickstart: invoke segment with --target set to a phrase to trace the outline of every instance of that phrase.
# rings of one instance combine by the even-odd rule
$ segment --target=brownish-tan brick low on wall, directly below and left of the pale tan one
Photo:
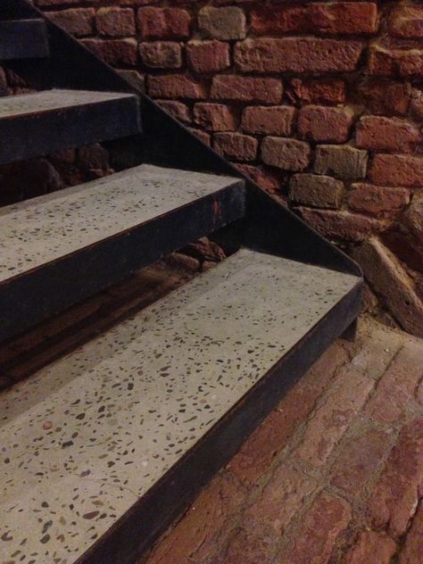
[[[340,180],[316,174],[294,174],[289,183],[289,200],[318,208],[339,208],[344,194]]]

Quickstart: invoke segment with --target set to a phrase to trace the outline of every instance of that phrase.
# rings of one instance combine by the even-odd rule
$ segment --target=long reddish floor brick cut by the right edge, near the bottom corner
[[[369,499],[369,521],[393,538],[407,529],[423,479],[423,419],[402,428],[386,467]]]

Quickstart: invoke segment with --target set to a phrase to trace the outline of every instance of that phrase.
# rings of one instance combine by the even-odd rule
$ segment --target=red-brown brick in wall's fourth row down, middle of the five
[[[291,135],[295,110],[291,106],[250,106],[245,108],[242,129],[247,133]]]

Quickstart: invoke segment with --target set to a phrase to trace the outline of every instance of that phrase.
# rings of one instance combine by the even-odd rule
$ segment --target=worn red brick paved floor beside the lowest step
[[[422,378],[422,341],[362,319],[139,564],[422,564]]]

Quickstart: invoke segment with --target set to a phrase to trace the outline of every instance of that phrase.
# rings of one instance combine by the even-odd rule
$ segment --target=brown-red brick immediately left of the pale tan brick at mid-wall
[[[304,170],[310,163],[308,143],[282,137],[265,137],[261,143],[261,160],[282,170]]]

